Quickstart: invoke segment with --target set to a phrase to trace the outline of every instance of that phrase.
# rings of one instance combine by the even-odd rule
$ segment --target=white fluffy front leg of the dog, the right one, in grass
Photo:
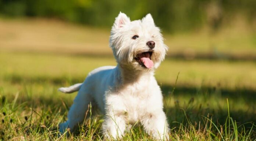
[[[163,111],[160,113],[150,113],[141,121],[147,134],[152,135],[157,140],[169,140],[169,128],[166,115]]]

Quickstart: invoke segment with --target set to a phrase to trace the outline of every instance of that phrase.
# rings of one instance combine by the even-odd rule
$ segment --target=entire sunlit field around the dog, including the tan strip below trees
[[[107,43],[109,31],[40,19],[0,20],[0,31],[0,140],[101,140],[103,116],[91,116],[90,111],[77,132],[58,136],[58,124],[67,119],[76,93],[57,89],[82,82],[96,67],[116,64]],[[211,40],[219,38],[219,50],[228,52],[232,48],[221,41],[224,35]],[[231,38],[228,35],[225,38]],[[164,37],[169,52],[177,44],[185,45],[184,36]],[[246,37],[237,41],[245,42],[245,48],[238,44],[233,53],[256,52]],[[194,34],[184,38],[188,45],[200,40]],[[204,51],[201,43],[191,45]],[[171,140],[256,140],[255,62],[167,58],[155,76],[163,91]],[[124,140],[153,139],[138,124]]]

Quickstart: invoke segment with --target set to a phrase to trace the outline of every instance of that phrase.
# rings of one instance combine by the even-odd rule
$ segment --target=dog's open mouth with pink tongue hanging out
[[[134,58],[139,64],[145,66],[146,68],[152,68],[154,66],[153,61],[151,60],[153,52],[143,52],[136,55]]]

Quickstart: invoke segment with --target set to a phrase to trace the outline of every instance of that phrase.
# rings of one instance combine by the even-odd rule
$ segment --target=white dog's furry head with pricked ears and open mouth
[[[157,68],[167,51],[160,29],[150,14],[130,21],[122,12],[112,26],[110,47],[118,64],[136,70]]]

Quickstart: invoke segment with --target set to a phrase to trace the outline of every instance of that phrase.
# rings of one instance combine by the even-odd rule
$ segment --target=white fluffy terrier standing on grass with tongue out
[[[163,96],[154,70],[164,60],[167,46],[153,18],[130,21],[124,13],[115,18],[110,47],[117,66],[91,71],[82,84],[60,88],[64,93],[78,91],[60,132],[83,121],[88,104],[95,103],[105,114],[102,130],[106,138],[120,139],[129,124],[140,122],[146,133],[168,140],[168,123],[163,112]]]

